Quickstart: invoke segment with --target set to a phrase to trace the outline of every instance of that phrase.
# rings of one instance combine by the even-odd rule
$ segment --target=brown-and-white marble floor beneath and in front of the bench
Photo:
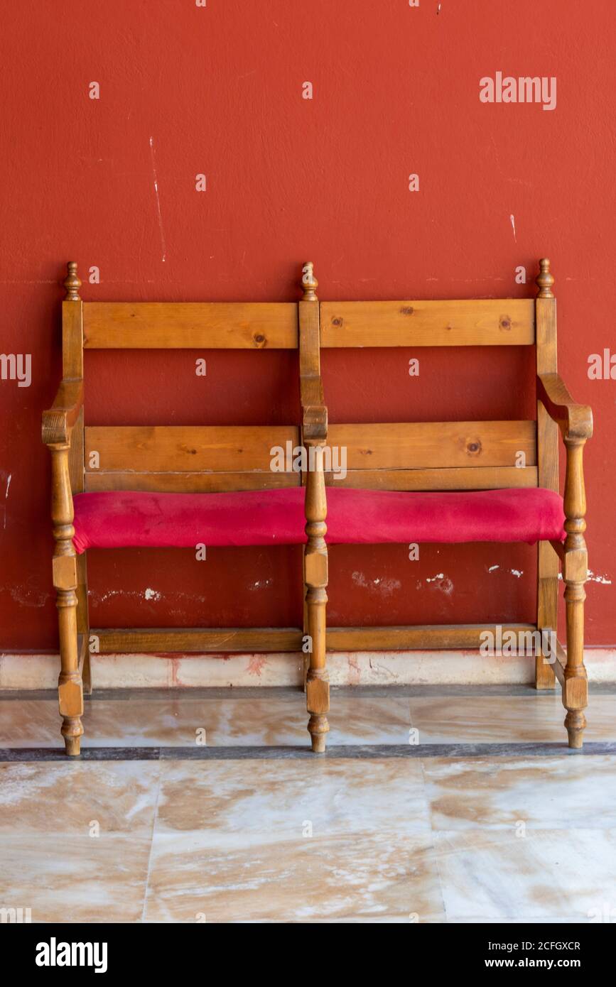
[[[56,701],[2,694],[0,908],[33,922],[616,921],[616,689],[592,695],[581,753],[559,696],[524,687],[335,690],[324,757],[293,756],[303,707],[291,689],[101,693],[84,748],[103,759],[67,762],[44,759]]]

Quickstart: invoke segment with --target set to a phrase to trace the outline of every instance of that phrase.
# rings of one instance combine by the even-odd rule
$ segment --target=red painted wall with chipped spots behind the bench
[[[322,298],[387,299],[532,294],[515,267],[531,282],[549,255],[561,372],[595,413],[590,567],[614,577],[616,384],[589,380],[587,357],[616,351],[615,20],[611,0],[7,6],[1,347],[31,353],[33,377],[0,381],[0,647],[56,641],[39,421],[60,377],[67,260],[82,277],[100,268],[86,299],[290,300],[307,259]],[[480,79],[498,71],[556,76],[556,109],[480,102]],[[296,419],[293,354],[212,352],[206,378],[193,356],[88,353],[87,420]],[[333,421],[530,417],[532,373],[527,350],[324,357]],[[525,546],[424,547],[417,563],[404,547],[336,548],[330,619],[532,618],[534,559]],[[286,625],[301,613],[296,550],[211,550],[206,563],[92,553],[89,565],[94,625]],[[590,644],[616,643],[615,613],[614,586],[589,583]]]

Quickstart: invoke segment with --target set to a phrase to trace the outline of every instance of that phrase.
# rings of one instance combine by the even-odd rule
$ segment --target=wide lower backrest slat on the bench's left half
[[[296,446],[294,425],[87,426],[86,473],[245,473],[271,471],[271,448]],[[97,452],[98,466],[93,469]]]

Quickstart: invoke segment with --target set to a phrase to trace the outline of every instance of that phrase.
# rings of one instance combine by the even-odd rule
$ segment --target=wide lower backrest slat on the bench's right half
[[[328,432],[328,446],[346,449],[347,470],[536,466],[536,445],[534,421],[335,424]]]

